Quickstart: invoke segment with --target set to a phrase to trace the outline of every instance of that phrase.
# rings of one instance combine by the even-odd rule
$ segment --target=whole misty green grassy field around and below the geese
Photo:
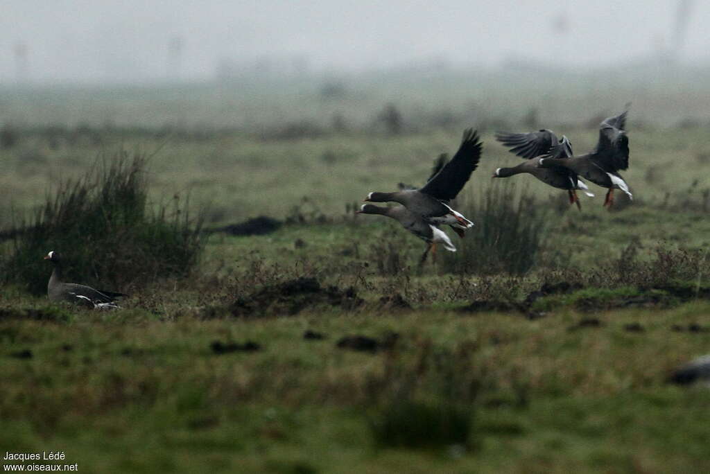
[[[199,88],[184,100],[185,89],[102,91],[102,106],[89,100],[96,91],[7,99],[0,231],[118,150],[151,156],[151,209],[189,195],[207,228],[260,215],[283,225],[263,236],[205,234],[189,275],[119,279],[125,286],[109,290],[130,297],[115,312],[50,304],[4,275],[0,452],[65,451],[67,463],[92,473],[710,470],[710,392],[668,382],[710,347],[707,104],[688,94],[699,86],[648,99],[660,79],[645,89],[625,83],[602,101],[592,97],[599,91],[537,98],[520,111],[503,87],[487,99],[471,92],[483,104],[474,117],[452,105],[454,94],[432,92],[442,81],[363,82],[367,100],[346,82],[354,95],[315,105],[312,84],[268,100],[246,89],[251,99],[236,105],[231,90],[222,109],[209,96],[217,92]],[[400,83],[422,98],[402,99],[405,128],[387,133],[371,120]],[[534,89],[520,86],[516,97],[526,87]],[[496,167],[518,162],[493,140],[497,128],[545,126],[525,121],[530,107],[543,122],[564,109],[550,126],[583,153],[598,133],[587,122],[621,111],[624,92],[635,102],[623,173],[633,202],[606,211],[604,190],[591,186],[596,198],[581,197],[579,212],[532,177],[511,178],[513,187],[491,180]],[[277,107],[279,98],[288,100]],[[153,107],[160,101],[163,109]],[[38,104],[53,104],[45,118]],[[671,124],[660,112],[668,104]],[[349,128],[332,126],[349,106]],[[452,121],[433,123],[444,109]],[[184,127],[163,128],[180,114]],[[457,254],[418,268],[421,241],[394,222],[354,216],[352,206],[367,192],[421,183],[439,153],[455,152],[464,126],[481,128],[484,140],[457,203],[476,227],[455,238]],[[484,197],[500,187],[510,203],[483,214]],[[546,224],[530,270],[454,265],[475,258],[482,219],[512,217],[520,199],[546,211],[528,216]],[[0,243],[0,268],[15,244]]]

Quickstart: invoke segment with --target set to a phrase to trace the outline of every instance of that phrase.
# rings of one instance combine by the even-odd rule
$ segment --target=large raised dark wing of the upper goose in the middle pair
[[[467,128],[454,158],[447,162],[420,189],[420,192],[429,194],[439,201],[454,199],[471,177],[471,173],[478,167],[479,160],[481,160],[481,141],[476,131]]]

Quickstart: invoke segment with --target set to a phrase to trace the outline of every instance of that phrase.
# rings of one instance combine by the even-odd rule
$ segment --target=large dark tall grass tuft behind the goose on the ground
[[[190,219],[182,209],[189,202],[178,196],[157,209],[148,204],[146,164],[145,155],[120,151],[60,183],[14,236],[1,268],[5,282],[46,292],[49,250],[62,253],[67,281],[124,292],[190,272],[203,248],[202,221]]]

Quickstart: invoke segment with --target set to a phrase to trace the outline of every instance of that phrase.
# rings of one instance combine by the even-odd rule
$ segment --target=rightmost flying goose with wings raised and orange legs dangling
[[[628,114],[628,109],[601,122],[599,141],[591,153],[572,158],[545,156],[540,158],[538,166],[542,168],[564,167],[594,184],[606,187],[608,191],[603,205],[608,206],[609,209],[614,202],[614,189],[621,189],[629,199],[633,199],[628,184],[618,174],[618,170],[628,168],[626,114]]]

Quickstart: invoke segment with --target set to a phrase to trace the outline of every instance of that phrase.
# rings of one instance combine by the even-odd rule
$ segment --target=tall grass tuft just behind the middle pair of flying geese
[[[477,199],[469,193],[458,210],[475,226],[463,240],[454,241],[456,253],[444,252],[442,268],[454,273],[528,272],[557,219],[549,206],[538,203],[525,189],[518,192],[507,180],[488,184]]]

